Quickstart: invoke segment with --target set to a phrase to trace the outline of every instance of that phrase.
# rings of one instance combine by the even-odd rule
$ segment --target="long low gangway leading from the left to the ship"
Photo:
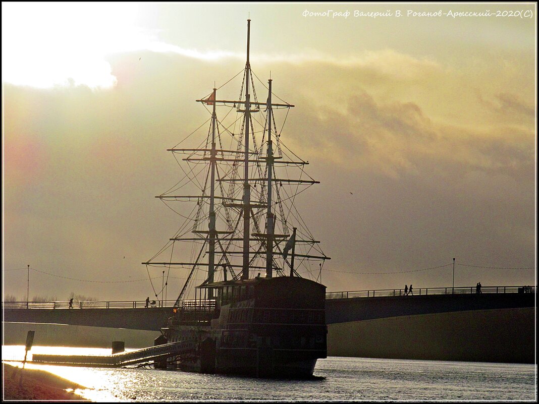
[[[131,352],[113,355],[50,355],[34,354],[29,363],[54,364],[63,366],[122,367],[162,360],[192,353],[196,349],[193,342],[180,341],[158,346],[150,346]]]

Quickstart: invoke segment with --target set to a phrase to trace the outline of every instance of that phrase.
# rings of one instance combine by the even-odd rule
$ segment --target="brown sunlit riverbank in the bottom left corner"
[[[75,389],[87,387],[44,370],[23,370],[2,362],[2,379],[3,401],[89,401],[74,393]]]

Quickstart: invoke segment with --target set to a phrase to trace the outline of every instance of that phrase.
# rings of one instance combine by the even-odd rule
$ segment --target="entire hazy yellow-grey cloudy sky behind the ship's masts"
[[[178,227],[154,198],[178,180],[166,149],[243,69],[247,18],[321,182],[298,205],[328,291],[451,286],[453,257],[455,286],[536,284],[536,11],[3,2],[4,294],[30,264],[30,297],[152,296],[141,262]]]

